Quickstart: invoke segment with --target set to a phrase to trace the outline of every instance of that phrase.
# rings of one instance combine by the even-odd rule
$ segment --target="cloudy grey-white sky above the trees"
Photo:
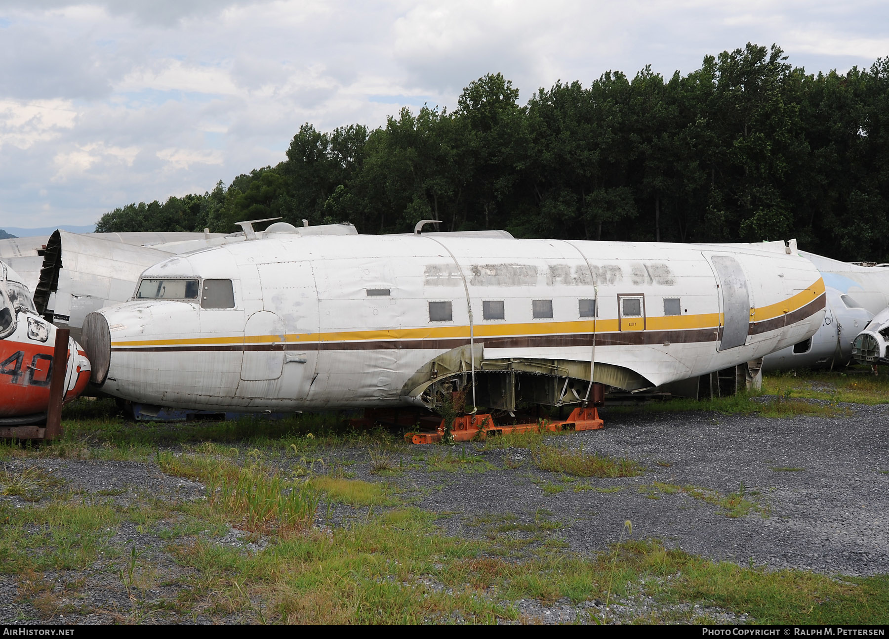
[[[453,109],[502,72],[521,101],[747,42],[807,71],[889,55],[885,2],[2,0],[0,228],[89,224],[274,165],[304,122]]]

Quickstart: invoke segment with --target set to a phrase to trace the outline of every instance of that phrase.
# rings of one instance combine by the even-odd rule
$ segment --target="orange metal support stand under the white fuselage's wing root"
[[[593,431],[598,428],[604,428],[605,422],[599,418],[599,411],[595,407],[590,408],[574,408],[571,415],[567,419],[542,422],[532,422],[530,424],[513,424],[507,426],[494,425],[493,418],[490,415],[467,415],[457,417],[453,420],[451,427],[451,435],[453,441],[471,441],[474,439],[484,440],[485,437],[492,435],[502,435],[509,433],[526,433],[528,431],[540,432],[541,429],[548,431]],[[445,420],[441,421],[435,431],[423,433],[404,433],[404,439],[414,444],[434,444],[445,439]]]

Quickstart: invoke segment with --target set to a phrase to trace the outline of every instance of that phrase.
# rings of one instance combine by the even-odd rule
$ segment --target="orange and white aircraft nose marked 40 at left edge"
[[[0,262],[0,424],[38,419],[50,400],[56,328],[36,314],[28,288]],[[90,362],[68,339],[64,401],[84,392]]]

